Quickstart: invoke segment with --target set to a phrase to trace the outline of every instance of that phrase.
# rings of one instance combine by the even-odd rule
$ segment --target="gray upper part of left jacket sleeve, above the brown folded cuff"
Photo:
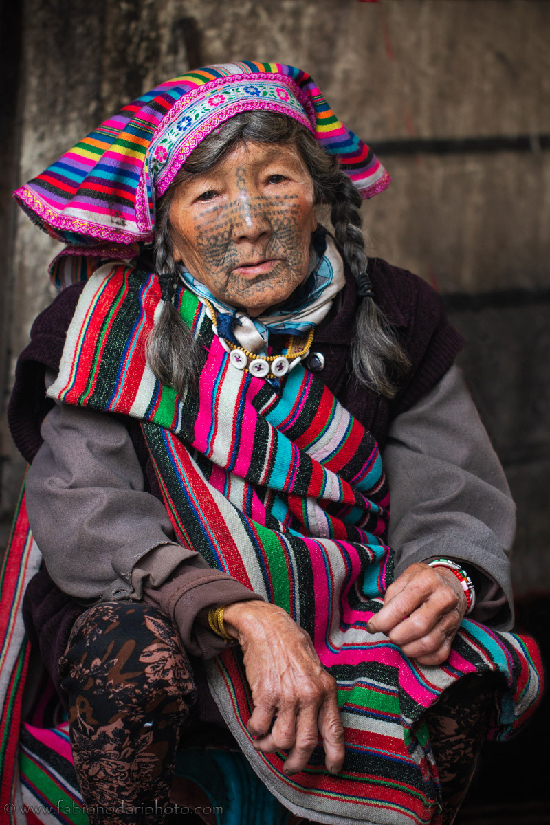
[[[26,478],[31,530],[50,576],[82,604],[128,598],[134,563],[167,545],[181,561],[165,508],[143,489],[125,426],[66,404],[45,417]],[[176,562],[177,563],[177,562]]]

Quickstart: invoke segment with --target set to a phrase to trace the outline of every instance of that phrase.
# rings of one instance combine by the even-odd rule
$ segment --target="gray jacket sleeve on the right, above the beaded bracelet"
[[[510,629],[515,505],[458,367],[395,418],[383,465],[396,577],[416,562],[461,561],[476,582],[472,618]]]

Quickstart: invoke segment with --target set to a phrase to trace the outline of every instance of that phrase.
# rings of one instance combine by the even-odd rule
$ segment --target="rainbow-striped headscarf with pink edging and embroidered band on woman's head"
[[[42,229],[99,257],[153,240],[155,198],[217,126],[242,111],[277,111],[336,154],[364,198],[390,181],[373,151],[331,111],[308,73],[278,63],[207,66],[124,106],[15,193]],[[120,245],[126,247],[120,250]]]

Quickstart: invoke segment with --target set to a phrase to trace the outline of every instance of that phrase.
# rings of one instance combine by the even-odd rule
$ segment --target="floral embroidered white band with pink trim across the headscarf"
[[[148,172],[157,198],[167,191],[190,153],[220,125],[244,111],[273,111],[314,132],[311,101],[283,74],[230,75],[183,95],[158,125],[148,148]]]

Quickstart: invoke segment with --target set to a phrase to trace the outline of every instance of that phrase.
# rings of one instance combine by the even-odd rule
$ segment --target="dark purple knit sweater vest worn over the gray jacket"
[[[357,296],[355,281],[349,273],[346,273],[341,309],[317,330],[313,349],[325,356],[320,375],[327,387],[373,433],[382,448],[393,417],[411,408],[437,384],[453,364],[463,339],[449,324],[440,297],[421,278],[378,259],[370,260],[369,275],[377,304],[396,329],[411,360],[411,370],[402,380],[397,397],[389,402],[359,387],[351,377],[350,346],[355,332]],[[17,362],[8,422],[16,446],[27,461],[32,461],[40,448],[40,424],[53,405],[45,398],[45,370],[59,369],[68,325],[82,289],[83,284],[69,286],[36,318],[31,343]],[[129,431],[149,490],[160,497],[139,428],[130,421]],[[57,663],[73,623],[83,610],[84,607],[59,590],[44,565],[29,582],[23,602],[27,634],[31,644],[39,649],[58,691]],[[60,695],[64,700],[63,694]]]

